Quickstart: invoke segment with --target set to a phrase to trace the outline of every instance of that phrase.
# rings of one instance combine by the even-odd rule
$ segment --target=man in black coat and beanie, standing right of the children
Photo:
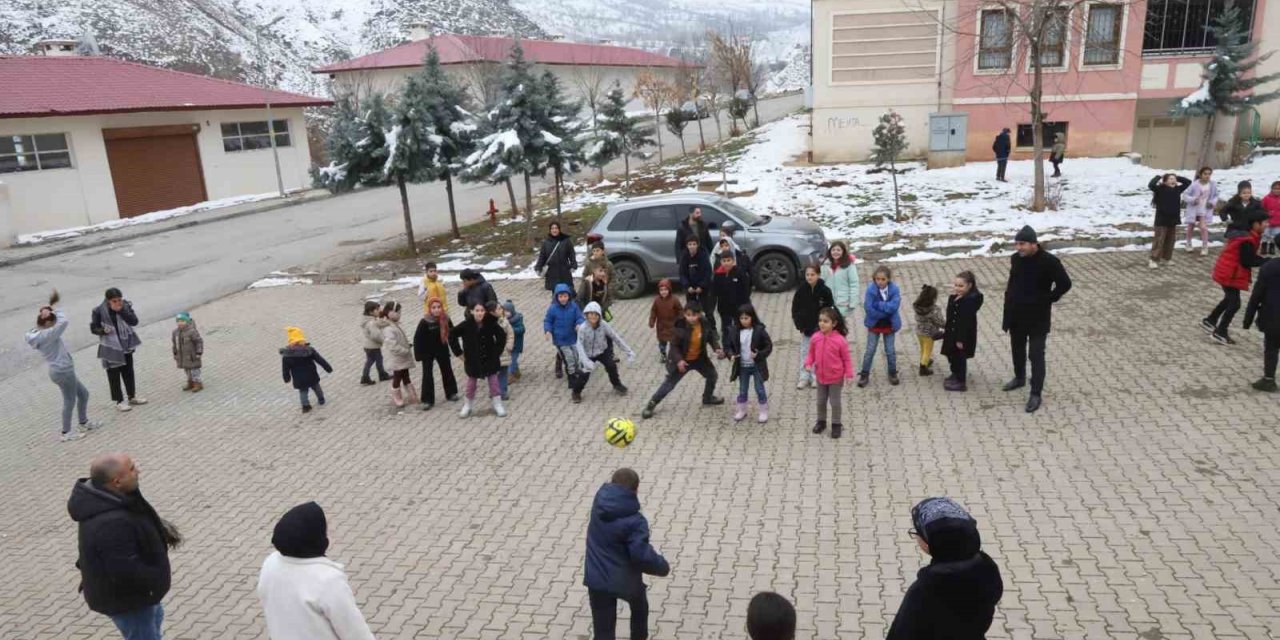
[[[1004,330],[1014,351],[1014,379],[1005,384],[1011,392],[1027,385],[1027,346],[1030,344],[1032,394],[1027,412],[1041,406],[1044,390],[1044,342],[1051,328],[1052,305],[1071,289],[1071,278],[1062,262],[1043,251],[1036,229],[1023,227],[1014,237],[1018,252],[1010,257],[1009,285],[1005,288]]]

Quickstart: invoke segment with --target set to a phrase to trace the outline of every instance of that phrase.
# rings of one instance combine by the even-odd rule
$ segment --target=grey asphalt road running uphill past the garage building
[[[801,104],[799,95],[762,101],[760,119],[781,118]],[[723,114],[721,122],[727,132]],[[703,122],[703,128],[708,141],[716,140],[710,119]],[[686,129],[685,140],[689,148],[696,148],[696,125]],[[663,142],[668,157],[680,154],[680,142],[673,136],[666,133]],[[621,172],[621,163],[617,170]],[[483,218],[489,198],[506,202],[506,188],[456,184],[458,221],[466,224]],[[410,207],[419,237],[448,229],[443,183],[411,186]],[[0,269],[0,379],[41,364],[40,355],[26,344],[23,334],[33,325],[37,307],[55,287],[61,292],[72,321],[65,339],[76,349],[95,342],[88,333],[88,316],[101,303],[108,287],[119,287],[133,302],[141,321],[148,324],[242,291],[271,271],[355,253],[372,242],[403,233],[403,228],[399,193],[394,188],[378,188]],[[298,319],[300,323],[305,320]],[[78,366],[87,372],[96,370],[99,364],[81,358]]]

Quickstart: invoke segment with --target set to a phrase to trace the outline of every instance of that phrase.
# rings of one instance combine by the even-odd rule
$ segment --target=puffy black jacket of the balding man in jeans
[[[79,527],[81,591],[106,616],[157,604],[169,593],[169,547],[160,516],[142,493],[128,495],[76,481],[67,512]]]

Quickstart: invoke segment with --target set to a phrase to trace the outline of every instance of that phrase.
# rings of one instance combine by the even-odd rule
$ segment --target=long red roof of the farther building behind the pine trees
[[[315,73],[419,67],[426,59],[426,50],[430,44],[435,44],[435,50],[440,54],[442,64],[500,63],[507,59],[515,40],[444,33],[406,42],[351,60],[329,64],[315,69]],[[525,50],[525,58],[538,64],[585,64],[598,67],[680,67],[684,64],[681,60],[671,56],[613,45],[521,38],[520,46]]]

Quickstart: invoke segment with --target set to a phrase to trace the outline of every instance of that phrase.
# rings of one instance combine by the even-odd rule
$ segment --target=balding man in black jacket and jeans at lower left
[[[124,453],[95,458],[67,511],[79,524],[76,566],[88,608],[109,616],[125,640],[160,640],[169,549],[182,536],[142,497],[138,472]]]

